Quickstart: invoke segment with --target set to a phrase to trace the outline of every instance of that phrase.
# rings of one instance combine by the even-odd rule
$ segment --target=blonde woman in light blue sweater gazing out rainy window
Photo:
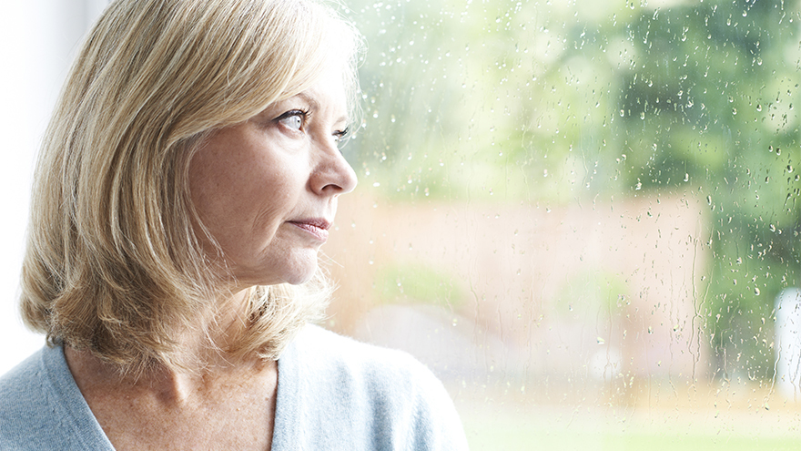
[[[405,354],[306,325],[359,36],[307,0],[120,0],[35,176],[0,449],[461,449]]]

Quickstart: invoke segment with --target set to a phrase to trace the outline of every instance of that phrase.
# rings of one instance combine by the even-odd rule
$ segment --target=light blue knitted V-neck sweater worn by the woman
[[[45,347],[0,378],[0,450],[112,450]],[[307,326],[279,358],[273,451],[462,450],[442,384],[408,354]]]

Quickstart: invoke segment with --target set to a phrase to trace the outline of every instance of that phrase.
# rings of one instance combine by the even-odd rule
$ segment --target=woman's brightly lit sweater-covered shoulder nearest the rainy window
[[[466,448],[451,397],[411,355],[316,326],[306,327],[288,351],[296,365],[297,381],[289,384],[297,384],[298,408],[324,423],[309,427],[336,429],[328,436],[360,437],[362,446],[351,449]],[[279,366],[279,390],[282,376],[289,374]]]

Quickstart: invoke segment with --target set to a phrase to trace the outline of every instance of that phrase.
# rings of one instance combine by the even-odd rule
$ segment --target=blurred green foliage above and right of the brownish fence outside
[[[349,7],[370,46],[361,183],[402,201],[701,200],[713,371],[773,375],[773,302],[801,282],[796,0]]]

